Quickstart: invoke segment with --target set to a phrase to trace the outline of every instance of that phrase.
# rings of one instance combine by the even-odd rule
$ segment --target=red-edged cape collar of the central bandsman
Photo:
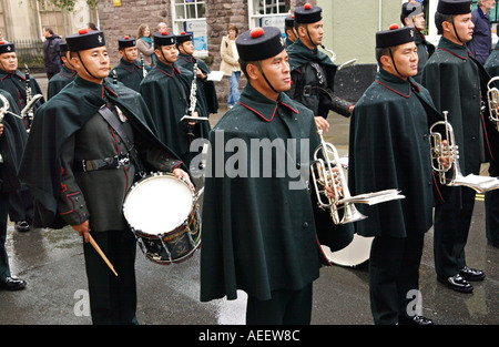
[[[259,115],[266,122],[272,122],[279,105],[293,113],[299,113],[293,101],[285,93],[281,93],[277,102],[275,102],[257,92],[249,83],[246,84],[241,93],[240,104]]]

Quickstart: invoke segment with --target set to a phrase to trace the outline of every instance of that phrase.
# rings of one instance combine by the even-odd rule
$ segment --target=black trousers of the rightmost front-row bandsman
[[[450,187],[452,190],[452,187]],[[459,190],[454,187],[454,190]],[[456,191],[458,192],[458,191]],[[457,202],[435,207],[434,255],[437,276],[447,278],[455,276],[466,266],[465,246],[475,206],[475,191],[460,188],[461,208],[451,208]],[[451,198],[456,197],[455,194]]]

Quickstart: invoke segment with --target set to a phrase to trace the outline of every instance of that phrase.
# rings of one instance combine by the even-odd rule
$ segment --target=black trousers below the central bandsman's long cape
[[[312,283],[299,290],[273,290],[269,300],[247,298],[247,325],[309,325]]]

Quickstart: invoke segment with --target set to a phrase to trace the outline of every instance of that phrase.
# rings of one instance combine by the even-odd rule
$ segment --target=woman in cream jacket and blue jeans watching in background
[[[231,109],[240,101],[240,55],[235,47],[235,40],[237,38],[237,27],[234,24],[228,25],[228,34],[223,37],[220,48],[220,55],[222,57],[222,63],[220,70],[224,72],[224,75],[228,78],[231,89],[227,96],[227,106]]]

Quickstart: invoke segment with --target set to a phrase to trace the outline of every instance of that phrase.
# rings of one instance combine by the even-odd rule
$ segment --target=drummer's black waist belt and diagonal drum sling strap
[[[113,131],[123,140],[125,147],[128,150],[126,155],[119,155],[111,159],[103,159],[96,161],[85,161],[83,164],[83,171],[92,171],[92,170],[103,170],[103,169],[116,169],[126,163],[129,159],[132,159],[132,162],[136,165],[139,174],[144,172],[144,167],[142,165],[141,160],[139,159],[139,154],[136,152],[133,142],[126,135],[121,122],[118,118],[108,109],[108,105],[104,104],[99,110],[99,114],[111,125]]]

